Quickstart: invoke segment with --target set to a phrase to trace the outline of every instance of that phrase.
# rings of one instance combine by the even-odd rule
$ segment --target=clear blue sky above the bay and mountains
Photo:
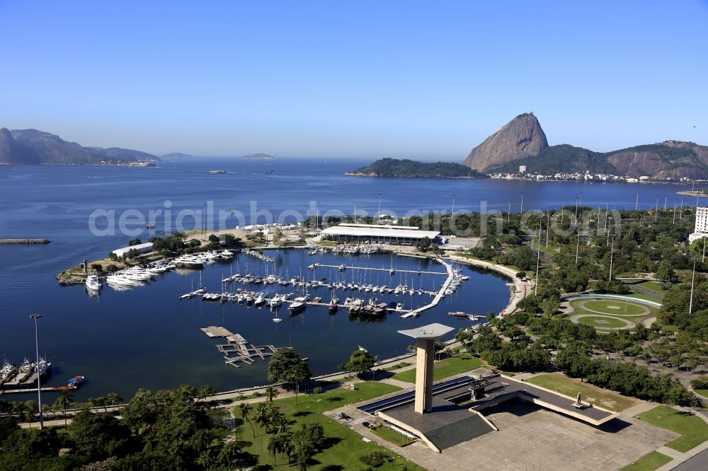
[[[197,155],[708,144],[708,2],[4,1],[0,127]]]

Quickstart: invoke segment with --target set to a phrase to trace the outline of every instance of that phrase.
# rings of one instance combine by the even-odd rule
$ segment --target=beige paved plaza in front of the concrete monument
[[[539,465],[544,471],[618,470],[678,438],[678,434],[646,424],[630,414],[594,427],[510,400],[484,410],[485,417],[498,431],[437,453],[421,441],[403,448],[394,446],[361,425],[362,421],[372,421],[371,416],[354,407],[345,407],[332,411],[332,417],[341,411],[353,417],[344,425],[430,471],[524,471]]]

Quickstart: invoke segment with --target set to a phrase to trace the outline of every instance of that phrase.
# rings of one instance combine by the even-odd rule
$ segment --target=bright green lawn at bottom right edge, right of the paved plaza
[[[680,412],[676,409],[669,409],[666,406],[657,406],[639,414],[639,419],[681,434],[682,436],[679,438],[666,443],[666,446],[682,453],[708,440],[708,424],[700,417],[688,412]]]

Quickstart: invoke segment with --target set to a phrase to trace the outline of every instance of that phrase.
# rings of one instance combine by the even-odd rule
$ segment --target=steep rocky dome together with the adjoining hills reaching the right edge
[[[518,115],[479,146],[464,165],[484,173],[607,173],[656,180],[708,178],[708,146],[664,141],[611,152],[595,152],[561,144],[549,146],[533,113]]]

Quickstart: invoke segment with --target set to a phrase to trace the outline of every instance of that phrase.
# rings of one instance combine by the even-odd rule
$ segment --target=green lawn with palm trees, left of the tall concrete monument
[[[329,439],[329,448],[321,450],[314,455],[313,470],[322,470],[326,467],[330,469],[346,469],[346,470],[366,470],[367,466],[359,461],[361,455],[370,453],[373,450],[383,451],[387,455],[394,456],[395,453],[377,445],[377,443],[367,443],[362,441],[362,437],[355,431],[352,431],[338,421],[330,419],[321,412],[326,412],[331,409],[342,407],[343,405],[359,402],[362,400],[371,399],[380,395],[387,394],[399,390],[392,385],[385,383],[376,383],[367,381],[365,383],[357,383],[356,390],[350,391],[345,388],[336,388],[317,395],[300,395],[297,397],[287,397],[274,401],[282,412],[291,419],[291,429],[298,429],[300,424],[317,423],[324,429],[324,436]],[[233,408],[234,415],[241,417],[238,407]],[[239,439],[251,442],[251,446],[246,448],[249,453],[254,453],[261,456],[259,466],[256,470],[288,470],[289,468],[286,458],[276,458],[275,467],[273,467],[273,454],[268,452],[268,438],[263,427],[251,420],[253,429],[248,423],[241,426],[241,434]],[[395,455],[396,460],[392,463],[385,463],[379,470],[401,470],[406,465],[409,470],[424,471],[423,468],[416,466],[399,455]]]

